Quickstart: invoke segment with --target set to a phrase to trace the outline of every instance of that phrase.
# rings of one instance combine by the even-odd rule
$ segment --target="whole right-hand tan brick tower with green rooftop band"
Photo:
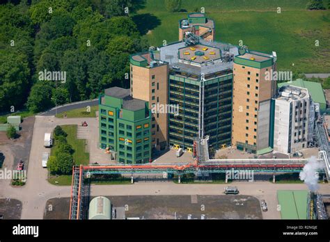
[[[275,63],[275,53],[246,51],[235,56],[232,145],[239,150],[255,154],[272,150],[276,81],[265,77],[275,71]]]

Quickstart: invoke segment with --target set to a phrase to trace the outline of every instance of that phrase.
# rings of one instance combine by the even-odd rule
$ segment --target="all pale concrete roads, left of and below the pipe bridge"
[[[59,119],[54,116],[36,116],[29,159],[28,179],[22,187],[10,186],[10,180],[0,180],[0,197],[11,197],[22,202],[22,219],[42,219],[47,200],[53,197],[70,197],[70,186],[54,186],[47,181],[47,169],[41,166],[42,152],[50,151],[43,147],[43,138],[56,125],[81,124],[88,122],[91,129],[97,128],[95,118]],[[94,133],[95,134],[95,133]],[[96,134],[97,136],[97,134]],[[94,137],[94,135],[93,135]],[[95,140],[90,143],[92,154],[103,154],[97,149]],[[94,147],[94,148],[93,148]],[[95,149],[95,150],[93,150]],[[101,153],[100,153],[101,152]],[[93,162],[93,160],[92,160]],[[269,211],[262,213],[264,218],[280,218],[277,208],[277,190],[306,190],[305,184],[271,184],[267,181],[233,182],[240,194],[253,195],[265,199]],[[172,182],[137,183],[133,185],[98,185],[91,187],[91,195],[219,195],[227,184],[174,184]],[[330,193],[329,184],[321,184],[321,193]]]

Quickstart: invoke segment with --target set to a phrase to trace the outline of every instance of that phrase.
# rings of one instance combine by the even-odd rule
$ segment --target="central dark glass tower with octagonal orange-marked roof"
[[[215,149],[230,145],[233,58],[238,48],[188,33],[184,42],[159,48],[168,63],[169,104],[179,113],[168,117],[168,141],[192,151],[194,138],[210,136]]]

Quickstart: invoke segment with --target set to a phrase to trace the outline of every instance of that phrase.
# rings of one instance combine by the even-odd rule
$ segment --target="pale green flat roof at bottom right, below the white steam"
[[[307,219],[308,191],[277,191],[282,219]]]

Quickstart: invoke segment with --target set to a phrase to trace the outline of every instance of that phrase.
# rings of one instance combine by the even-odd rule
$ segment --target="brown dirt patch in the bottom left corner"
[[[0,199],[0,215],[3,219],[21,218],[22,202],[15,199]]]

